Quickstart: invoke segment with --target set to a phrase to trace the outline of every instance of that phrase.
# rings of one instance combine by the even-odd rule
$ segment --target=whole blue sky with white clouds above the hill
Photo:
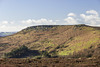
[[[100,27],[100,0],[0,0],[0,32],[75,24]]]

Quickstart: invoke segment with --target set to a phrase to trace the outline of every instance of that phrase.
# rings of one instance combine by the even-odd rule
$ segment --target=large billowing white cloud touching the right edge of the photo
[[[80,17],[85,24],[98,26],[100,24],[100,17],[95,10],[86,11],[86,14],[80,14]]]

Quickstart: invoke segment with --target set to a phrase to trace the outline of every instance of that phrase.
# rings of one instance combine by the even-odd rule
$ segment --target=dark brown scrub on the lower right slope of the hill
[[[80,52],[74,52],[73,54],[66,56],[68,58],[93,58],[100,57],[100,44],[96,47],[90,46],[89,49],[84,49]]]

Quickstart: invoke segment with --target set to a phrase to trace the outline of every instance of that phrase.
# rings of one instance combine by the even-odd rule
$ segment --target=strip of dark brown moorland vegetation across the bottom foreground
[[[100,58],[0,59],[0,67],[100,67]]]

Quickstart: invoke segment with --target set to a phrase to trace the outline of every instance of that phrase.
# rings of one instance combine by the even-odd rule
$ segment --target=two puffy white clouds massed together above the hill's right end
[[[74,13],[69,13],[64,21],[66,22],[65,24],[87,24],[90,26],[100,26],[100,16],[95,10],[86,11],[84,14],[80,14],[79,16],[76,16]]]

